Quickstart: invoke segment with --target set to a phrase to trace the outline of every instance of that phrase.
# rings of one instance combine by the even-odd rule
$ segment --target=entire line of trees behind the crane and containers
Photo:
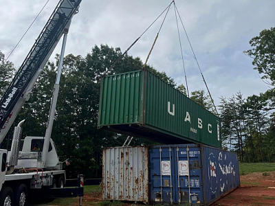
[[[254,69],[263,74],[263,80],[271,88],[265,93],[248,98],[243,98],[241,93],[230,98],[221,98],[218,106],[223,148],[238,152],[241,161],[275,161],[274,36],[274,28],[263,30],[250,41],[252,49],[245,51],[245,54],[252,57]],[[23,137],[45,135],[58,58],[56,55],[53,62],[47,62],[30,100],[24,104],[14,122],[15,126],[22,119],[27,119],[23,125]],[[120,60],[109,70],[118,58]],[[4,54],[0,52],[0,97],[15,72],[12,62],[4,59]],[[125,135],[97,129],[101,78],[104,74],[134,71],[144,67],[186,94],[184,85],[177,86],[166,73],[144,66],[140,58],[133,58],[128,54],[122,56],[120,48],[100,45],[92,47],[86,56],[69,54],[65,57],[52,139],[56,143],[60,160],[70,161],[70,165],[65,166],[68,177],[79,173],[87,177],[100,177],[102,148],[122,146],[126,139]],[[210,97],[205,91],[192,91],[190,98],[214,113]],[[10,147],[11,139],[12,130],[1,148]],[[153,143],[140,138],[133,139],[131,143],[140,144]]]

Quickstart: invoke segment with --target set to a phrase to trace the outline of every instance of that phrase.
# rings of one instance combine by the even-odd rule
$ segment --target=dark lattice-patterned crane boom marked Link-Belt
[[[8,133],[81,0],[61,0],[0,100],[0,143]]]

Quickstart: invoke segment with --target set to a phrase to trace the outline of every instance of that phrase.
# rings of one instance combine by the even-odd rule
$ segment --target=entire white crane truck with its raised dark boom
[[[27,205],[28,198],[36,192],[53,196],[83,196],[83,187],[63,188],[65,170],[58,159],[56,146],[51,139],[52,125],[58,98],[59,81],[67,33],[72,17],[78,13],[81,0],[61,0],[36,39],[28,56],[19,67],[10,86],[0,101],[0,143],[5,139],[24,102],[58,41],[63,36],[61,57],[44,137],[25,137],[21,150],[22,125],[14,128],[11,150],[0,149],[0,206]],[[81,184],[80,184],[81,185]]]

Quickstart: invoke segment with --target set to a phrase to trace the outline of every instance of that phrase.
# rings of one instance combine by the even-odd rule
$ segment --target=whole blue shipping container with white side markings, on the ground
[[[240,185],[236,154],[196,144],[149,149],[150,201],[210,205]]]

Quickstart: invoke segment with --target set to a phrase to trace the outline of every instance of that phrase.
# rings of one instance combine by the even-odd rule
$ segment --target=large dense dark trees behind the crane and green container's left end
[[[56,143],[61,161],[69,158],[71,164],[66,168],[67,176],[83,173],[87,177],[101,176],[102,148],[122,146],[126,137],[107,130],[98,130],[98,107],[100,99],[100,80],[104,75],[143,69],[140,58],[121,56],[120,48],[107,45],[95,46],[87,56],[65,56],[63,73],[56,106],[52,139]],[[113,69],[113,62],[121,58]],[[30,100],[19,113],[17,124],[23,124],[23,137],[26,135],[45,135],[47,116],[50,110],[52,89],[56,78],[58,56],[55,62],[47,62]],[[173,79],[146,67],[159,75],[162,80],[173,84]],[[133,139],[131,145],[151,144],[144,139]]]

